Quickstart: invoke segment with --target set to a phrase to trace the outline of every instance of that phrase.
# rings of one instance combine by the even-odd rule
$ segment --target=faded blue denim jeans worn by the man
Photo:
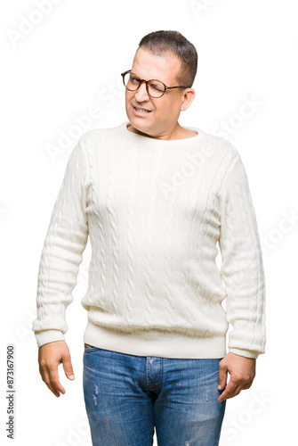
[[[222,359],[222,358],[221,358]],[[226,400],[221,359],[134,356],[85,344],[83,387],[93,446],[217,446]]]

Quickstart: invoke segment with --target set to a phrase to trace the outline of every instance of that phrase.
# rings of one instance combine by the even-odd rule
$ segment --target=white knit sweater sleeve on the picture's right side
[[[265,352],[265,276],[254,205],[238,154],[221,200],[221,277],[227,320],[233,326],[230,352],[258,358]]]

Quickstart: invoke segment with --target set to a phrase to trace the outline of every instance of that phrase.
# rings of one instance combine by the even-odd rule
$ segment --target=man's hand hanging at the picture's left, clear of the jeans
[[[65,393],[65,389],[60,384],[58,375],[58,366],[61,362],[68,379],[75,379],[68,344],[65,341],[44,343],[38,349],[38,362],[39,373],[44,383],[57,398],[60,397],[60,392]]]

